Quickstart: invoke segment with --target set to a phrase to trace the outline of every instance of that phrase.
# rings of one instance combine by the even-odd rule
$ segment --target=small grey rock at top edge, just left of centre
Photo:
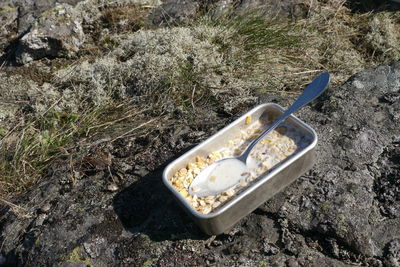
[[[148,17],[150,24],[172,26],[187,24],[199,9],[199,3],[192,0],[170,0],[155,8]]]

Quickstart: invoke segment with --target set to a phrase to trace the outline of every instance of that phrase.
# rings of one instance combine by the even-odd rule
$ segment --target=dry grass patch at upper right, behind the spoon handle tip
[[[248,63],[243,78],[258,80],[261,92],[291,92],[321,71],[341,84],[358,71],[400,59],[400,12],[357,13],[345,4],[304,0],[302,19],[270,21],[253,11],[217,23],[234,32],[228,39],[233,46],[244,48],[238,53],[241,64]]]

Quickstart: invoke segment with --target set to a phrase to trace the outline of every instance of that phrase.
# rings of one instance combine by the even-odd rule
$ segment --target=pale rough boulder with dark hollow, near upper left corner
[[[16,61],[26,64],[43,57],[71,57],[83,44],[80,14],[61,4],[41,14],[30,31],[20,40]]]

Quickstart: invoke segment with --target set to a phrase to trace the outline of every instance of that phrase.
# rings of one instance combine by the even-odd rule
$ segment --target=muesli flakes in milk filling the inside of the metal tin
[[[275,166],[306,148],[313,141],[311,136],[305,135],[295,125],[284,122],[265,136],[252,150],[247,160],[249,171],[241,174],[242,179],[239,184],[215,196],[198,197],[195,194],[189,194],[189,186],[202,170],[218,160],[240,155],[274,119],[275,117],[271,114],[261,118],[252,115],[245,116],[241,122],[243,126],[241,130],[232,138],[223,140],[225,144],[222,148],[212,151],[207,156],[193,157],[185,167],[177,170],[168,182],[193,209],[201,214],[209,214],[223,207],[260,177],[265,176]],[[218,177],[211,176],[209,179],[218,179]],[[196,192],[195,187],[192,187],[192,190]]]

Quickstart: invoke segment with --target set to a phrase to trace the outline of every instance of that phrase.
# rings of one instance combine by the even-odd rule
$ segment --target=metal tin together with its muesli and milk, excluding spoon
[[[317,134],[310,126],[290,116],[284,127],[277,128],[259,143],[260,149],[272,150],[272,157],[267,158],[266,150],[252,151],[254,158],[248,162],[253,168],[244,175],[240,185],[212,197],[189,195],[191,181],[202,169],[222,157],[240,153],[247,146],[245,142],[284,111],[273,103],[256,106],[165,167],[164,185],[204,233],[218,235],[228,231],[313,166]],[[273,139],[281,142],[272,143]]]

